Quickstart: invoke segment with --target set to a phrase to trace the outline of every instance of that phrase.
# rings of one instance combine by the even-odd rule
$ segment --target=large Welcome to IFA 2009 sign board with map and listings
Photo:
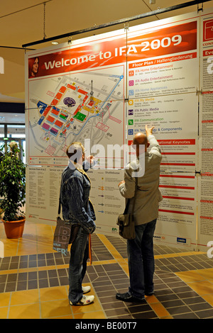
[[[148,124],[163,154],[155,242],[197,246],[197,91],[205,71],[200,47],[212,50],[211,17],[211,10],[190,13],[27,53],[29,221],[55,225],[65,150],[80,141],[99,162],[88,173],[97,232],[118,235],[116,217],[124,210],[118,184],[131,152],[121,149],[107,164],[107,147],[130,147]]]

